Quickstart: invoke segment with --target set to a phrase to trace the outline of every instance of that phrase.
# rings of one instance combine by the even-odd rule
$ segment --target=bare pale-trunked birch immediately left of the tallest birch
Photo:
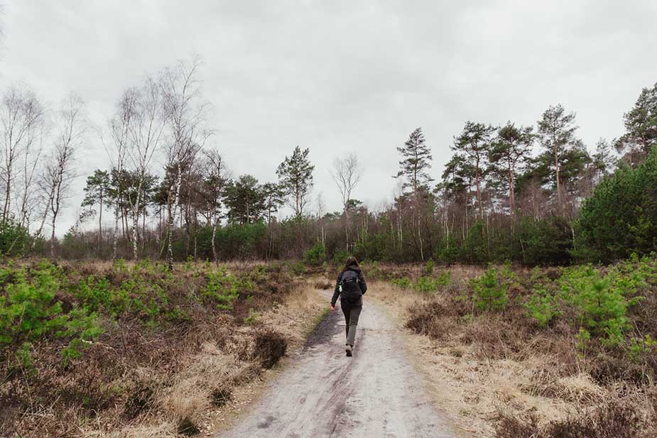
[[[127,155],[136,177],[134,181],[136,187],[133,187],[134,197],[128,197],[128,201],[132,213],[130,236],[133,258],[137,260],[139,258],[137,230],[139,215],[144,204],[144,184],[153,163],[153,155],[160,146],[165,123],[162,111],[162,89],[158,82],[148,77],[143,87],[135,91],[134,97],[134,114],[131,123],[127,123],[126,127],[129,132]]]

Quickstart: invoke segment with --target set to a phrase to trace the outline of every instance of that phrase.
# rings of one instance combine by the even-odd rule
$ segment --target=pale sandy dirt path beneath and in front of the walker
[[[354,357],[338,306],[237,427],[251,437],[453,437],[430,404],[385,312],[365,302]]]

